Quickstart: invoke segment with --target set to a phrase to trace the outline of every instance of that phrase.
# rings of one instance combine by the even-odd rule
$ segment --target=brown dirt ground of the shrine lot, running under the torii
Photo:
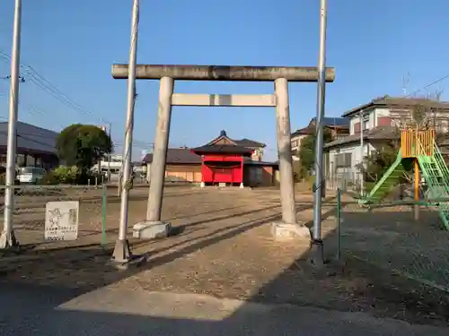
[[[146,193],[146,188],[132,191],[130,225],[144,220]],[[308,241],[277,242],[270,235],[270,222],[280,219],[278,190],[166,187],[163,220],[172,222],[172,236],[155,241],[131,238],[133,252],[148,253],[149,261],[140,268],[116,271],[106,263],[119,225],[119,199],[114,194],[114,190],[108,192],[105,251],[100,248],[101,192],[89,191],[80,196],[80,237],[68,244],[43,241],[41,210],[47,200],[33,197],[31,203],[35,207],[31,210],[23,204],[14,219],[20,223],[16,234],[25,251],[3,256],[0,279],[81,291],[113,286],[201,293],[363,311],[415,323],[449,322],[449,300],[443,291],[429,289],[371,263],[374,259],[391,263],[389,257],[401,260],[396,254],[392,258],[389,251],[400,250],[398,242],[401,246],[413,246],[413,241],[408,240],[411,236],[404,234],[409,232],[407,228],[428,238],[420,240],[421,252],[436,247],[432,235],[435,230],[418,231],[426,228],[424,223],[407,226],[408,217],[402,214],[409,211],[366,212],[346,206],[341,228],[342,258],[336,261],[336,201],[334,195],[329,195],[323,206],[322,227],[330,263],[317,270],[307,261]],[[71,195],[75,196],[79,195]],[[296,195],[298,220],[309,227],[313,221],[312,201],[311,194]],[[436,235],[440,237],[438,248],[447,242],[444,235]],[[408,251],[400,256],[408,258],[402,259],[404,264],[413,263],[417,257]],[[438,258],[432,261],[434,266],[441,263],[443,260]]]

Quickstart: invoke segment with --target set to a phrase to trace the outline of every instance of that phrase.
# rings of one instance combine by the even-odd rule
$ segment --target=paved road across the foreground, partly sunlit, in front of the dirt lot
[[[296,306],[248,304],[140,289],[104,288],[79,295],[68,289],[0,283],[2,336],[448,334],[448,329]]]

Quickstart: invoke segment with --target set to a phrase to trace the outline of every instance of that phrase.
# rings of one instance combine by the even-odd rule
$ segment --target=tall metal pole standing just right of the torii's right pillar
[[[316,148],[315,148],[315,190],[313,194],[313,263],[322,264],[323,247],[321,240],[321,184],[322,184],[322,146],[324,104],[326,94],[326,16],[327,0],[320,3],[320,52],[318,56],[318,87],[316,108]]]

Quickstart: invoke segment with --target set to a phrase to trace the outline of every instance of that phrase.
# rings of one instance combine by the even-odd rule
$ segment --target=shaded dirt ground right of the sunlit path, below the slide
[[[343,210],[340,233],[326,223],[335,213],[323,215],[327,263],[317,268],[309,263],[311,255],[300,255],[251,300],[447,325],[449,233],[436,227],[437,213],[421,210],[420,221],[414,222],[411,208],[365,211],[354,206]]]

